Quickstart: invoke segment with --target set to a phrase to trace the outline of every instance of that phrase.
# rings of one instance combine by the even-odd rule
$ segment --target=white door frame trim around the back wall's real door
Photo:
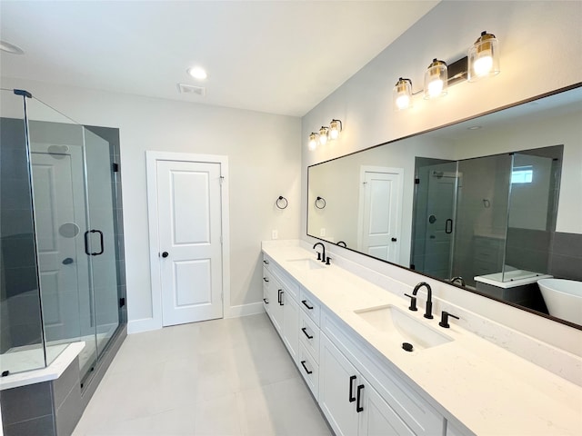
[[[149,229],[149,264],[152,293],[152,318],[156,328],[162,324],[162,269],[159,262],[160,242],[157,214],[157,162],[219,163],[221,184],[220,209],[222,216],[222,311],[223,318],[230,314],[230,222],[228,209],[228,156],[218,154],[190,154],[146,151],[147,222]]]

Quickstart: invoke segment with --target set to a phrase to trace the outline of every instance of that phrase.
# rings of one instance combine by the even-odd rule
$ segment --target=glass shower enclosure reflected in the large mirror
[[[547,273],[563,148],[416,157],[411,265],[472,288],[476,276],[510,282]]]

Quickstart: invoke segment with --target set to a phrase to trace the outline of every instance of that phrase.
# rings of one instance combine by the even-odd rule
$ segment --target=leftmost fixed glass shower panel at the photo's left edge
[[[0,90],[0,371],[43,368],[25,97]]]

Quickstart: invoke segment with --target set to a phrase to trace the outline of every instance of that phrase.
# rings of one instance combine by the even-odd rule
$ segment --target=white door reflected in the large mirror
[[[398,262],[402,210],[402,170],[363,169],[360,200],[363,252]]]

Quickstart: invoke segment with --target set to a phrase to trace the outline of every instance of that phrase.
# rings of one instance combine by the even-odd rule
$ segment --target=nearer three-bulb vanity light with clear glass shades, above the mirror
[[[409,109],[413,104],[413,95],[424,92],[426,100],[447,94],[448,86],[468,80],[476,82],[482,78],[497,75],[499,69],[499,44],[493,34],[481,32],[474,45],[468,50],[467,56],[452,64],[433,59],[425,72],[425,87],[423,91],[412,91],[412,81],[400,77],[392,91],[392,101],[395,111]]]

